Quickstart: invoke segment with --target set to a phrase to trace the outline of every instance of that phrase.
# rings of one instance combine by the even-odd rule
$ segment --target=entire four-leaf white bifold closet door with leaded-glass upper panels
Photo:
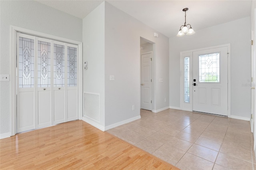
[[[77,45],[17,33],[17,132],[78,119]]]

